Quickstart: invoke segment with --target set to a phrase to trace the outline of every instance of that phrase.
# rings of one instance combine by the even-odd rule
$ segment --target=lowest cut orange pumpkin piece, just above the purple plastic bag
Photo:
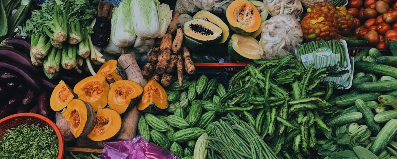
[[[139,84],[138,84],[139,85]],[[96,112],[96,123],[87,138],[93,141],[105,141],[118,134],[121,128],[121,117],[110,108],[100,108]]]

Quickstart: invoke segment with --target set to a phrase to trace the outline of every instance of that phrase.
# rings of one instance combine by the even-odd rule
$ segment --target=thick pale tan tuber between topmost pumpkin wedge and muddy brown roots
[[[143,78],[141,69],[139,69],[137,60],[131,54],[123,54],[117,60],[118,64],[124,69],[127,79],[139,83],[142,88],[145,87],[147,80]]]

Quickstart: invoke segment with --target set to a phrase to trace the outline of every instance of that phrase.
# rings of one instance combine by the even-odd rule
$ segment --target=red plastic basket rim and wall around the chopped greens
[[[40,126],[49,125],[54,129],[56,136],[58,137],[59,153],[58,159],[62,159],[64,156],[64,139],[59,131],[59,128],[50,119],[35,113],[19,113],[10,115],[0,120],[0,138],[6,133],[6,130],[15,128],[22,124],[39,124]]]

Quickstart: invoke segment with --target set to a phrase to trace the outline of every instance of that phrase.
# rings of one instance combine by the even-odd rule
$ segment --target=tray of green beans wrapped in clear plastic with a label
[[[307,68],[314,63],[315,69],[327,68],[328,72],[338,72],[351,68],[345,40],[306,42],[295,50],[297,60]]]

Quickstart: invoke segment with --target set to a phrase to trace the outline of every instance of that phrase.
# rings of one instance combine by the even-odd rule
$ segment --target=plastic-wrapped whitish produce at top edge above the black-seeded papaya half
[[[227,7],[234,0],[193,0],[201,10],[208,10],[213,13],[225,13]]]

